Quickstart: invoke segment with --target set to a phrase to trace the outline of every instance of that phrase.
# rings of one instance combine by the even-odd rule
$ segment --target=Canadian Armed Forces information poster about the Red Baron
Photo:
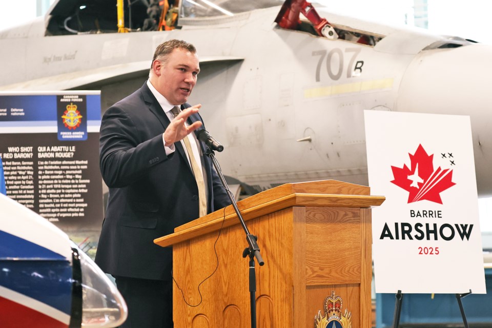
[[[66,232],[100,229],[100,112],[99,91],[0,93],[7,196]]]

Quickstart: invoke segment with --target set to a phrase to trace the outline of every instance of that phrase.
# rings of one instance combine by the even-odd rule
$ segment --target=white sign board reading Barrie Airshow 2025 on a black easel
[[[485,294],[469,117],[364,117],[376,292]]]

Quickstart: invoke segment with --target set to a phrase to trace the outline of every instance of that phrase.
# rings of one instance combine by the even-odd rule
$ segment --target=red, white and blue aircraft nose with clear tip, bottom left
[[[128,308],[116,286],[64,232],[2,194],[0,209],[0,327],[125,322]]]

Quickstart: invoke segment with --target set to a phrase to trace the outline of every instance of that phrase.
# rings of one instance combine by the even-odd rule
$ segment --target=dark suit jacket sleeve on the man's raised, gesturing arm
[[[162,134],[140,142],[139,128],[118,106],[109,108],[104,114],[99,139],[99,165],[108,187],[131,185],[145,176],[152,166],[168,158]]]

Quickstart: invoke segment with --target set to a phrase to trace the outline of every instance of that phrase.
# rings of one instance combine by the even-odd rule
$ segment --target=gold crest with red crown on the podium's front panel
[[[327,296],[324,300],[324,316],[321,315],[321,310],[314,317],[315,328],[352,328],[352,312],[347,309],[342,313],[342,298],[335,295]]]

